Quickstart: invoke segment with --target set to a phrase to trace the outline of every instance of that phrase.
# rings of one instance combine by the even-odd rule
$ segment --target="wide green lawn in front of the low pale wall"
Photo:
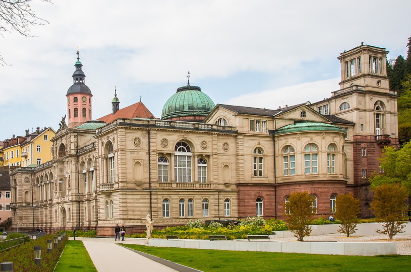
[[[341,256],[253,251],[225,251],[123,244],[206,272],[229,271],[408,271],[411,256]]]

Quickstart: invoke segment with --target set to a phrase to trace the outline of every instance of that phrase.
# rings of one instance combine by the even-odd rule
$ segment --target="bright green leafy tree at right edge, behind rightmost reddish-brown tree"
[[[411,193],[411,141],[397,150],[385,146],[379,159],[381,172],[370,178],[371,188],[382,184],[399,184]]]

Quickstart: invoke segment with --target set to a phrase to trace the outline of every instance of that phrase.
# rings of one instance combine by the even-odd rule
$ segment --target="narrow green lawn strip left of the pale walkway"
[[[82,241],[67,241],[63,254],[54,270],[54,272],[63,271],[97,271]]]

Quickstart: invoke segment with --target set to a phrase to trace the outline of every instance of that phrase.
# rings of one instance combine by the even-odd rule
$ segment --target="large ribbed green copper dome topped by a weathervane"
[[[177,89],[164,104],[161,119],[189,116],[207,116],[214,108],[214,102],[197,86],[184,86]]]

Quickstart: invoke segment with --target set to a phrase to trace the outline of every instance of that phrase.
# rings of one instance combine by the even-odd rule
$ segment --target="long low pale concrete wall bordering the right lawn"
[[[332,255],[397,254],[395,242],[209,241],[150,239],[149,246]]]

